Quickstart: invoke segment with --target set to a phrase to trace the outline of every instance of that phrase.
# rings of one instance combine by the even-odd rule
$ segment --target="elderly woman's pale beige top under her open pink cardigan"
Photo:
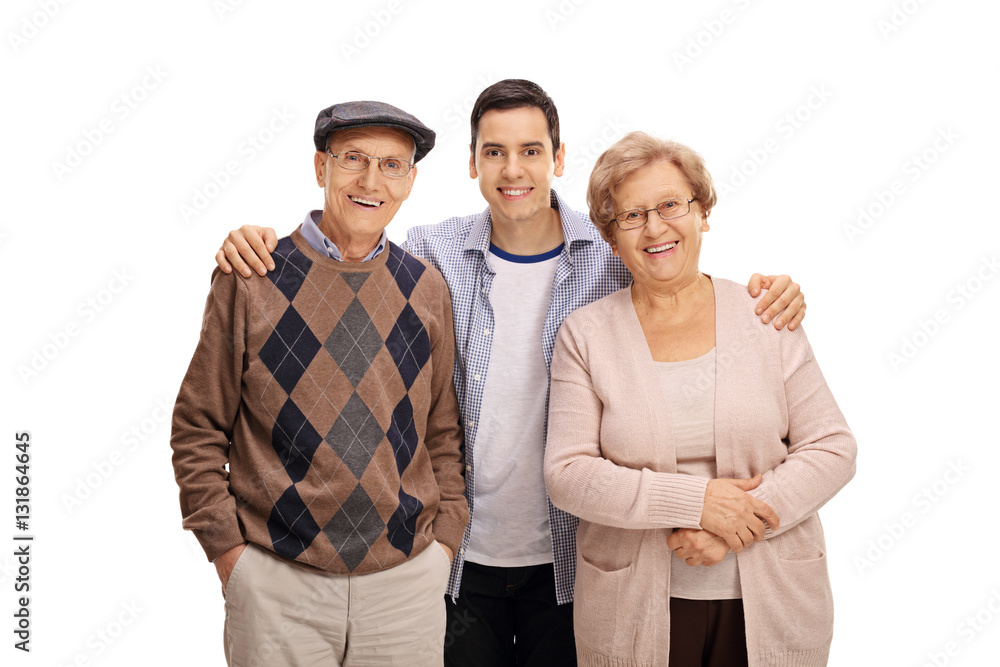
[[[718,477],[715,464],[715,348],[697,359],[660,361],[656,366],[670,406],[677,472],[715,479]],[[721,562],[712,566],[691,566],[672,557],[670,597],[686,600],[743,597],[736,554],[730,551]]]

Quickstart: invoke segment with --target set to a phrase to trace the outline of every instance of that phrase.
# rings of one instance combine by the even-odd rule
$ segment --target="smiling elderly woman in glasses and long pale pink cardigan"
[[[580,664],[825,665],[817,510],[856,444],[805,334],[698,270],[715,190],[691,149],[627,135],[588,203],[633,282],[571,314],[552,362],[545,479],[580,517]]]

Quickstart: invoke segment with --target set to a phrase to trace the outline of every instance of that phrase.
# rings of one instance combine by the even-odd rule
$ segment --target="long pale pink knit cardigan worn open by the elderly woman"
[[[719,477],[778,532],[737,557],[750,665],[825,665],[833,636],[816,511],[854,476],[857,445],[801,327],[760,322],[742,285],[713,279]],[[707,479],[680,475],[656,368],[629,289],[566,318],[552,360],[545,481],[580,517],[574,623],[581,665],[666,665],[671,528],[698,528]],[[684,567],[687,567],[684,565]]]

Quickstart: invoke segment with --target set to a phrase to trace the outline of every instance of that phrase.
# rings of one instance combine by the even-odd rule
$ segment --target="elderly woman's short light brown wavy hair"
[[[669,162],[680,169],[701,210],[705,215],[711,213],[716,201],[715,186],[701,155],[676,141],[629,132],[597,158],[587,186],[590,219],[608,242],[615,213],[621,213],[615,208],[615,194],[629,176],[657,162]]]

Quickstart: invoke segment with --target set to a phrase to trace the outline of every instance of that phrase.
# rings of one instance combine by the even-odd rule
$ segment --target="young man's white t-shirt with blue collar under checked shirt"
[[[552,562],[542,463],[549,374],[542,327],[562,246],[510,255],[490,246],[494,331],[474,451],[476,504],[465,558],[480,565]]]

